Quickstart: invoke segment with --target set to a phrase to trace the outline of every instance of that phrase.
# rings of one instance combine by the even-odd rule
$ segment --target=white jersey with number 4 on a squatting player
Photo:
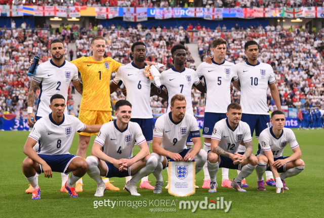
[[[103,147],[103,152],[115,159],[130,159],[135,141],[138,145],[146,141],[140,125],[129,122],[125,130],[120,131],[115,120],[102,125],[95,139]]]

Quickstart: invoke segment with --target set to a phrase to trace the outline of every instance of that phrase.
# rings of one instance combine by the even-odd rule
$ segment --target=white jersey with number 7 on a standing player
[[[167,113],[171,112],[171,98],[176,94],[182,94],[187,102],[186,113],[193,115],[191,89],[193,84],[200,83],[196,72],[189,68],[184,68],[182,72],[179,72],[172,67],[161,73],[160,81],[161,85],[168,89]]]

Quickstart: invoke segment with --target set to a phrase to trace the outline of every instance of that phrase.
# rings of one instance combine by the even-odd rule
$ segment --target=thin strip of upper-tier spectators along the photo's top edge
[[[26,6],[87,6],[87,7],[198,7],[197,1],[175,0],[0,0],[1,5]],[[282,8],[282,7],[322,7],[322,0],[203,0],[206,8]],[[200,6],[201,7],[201,6]]]

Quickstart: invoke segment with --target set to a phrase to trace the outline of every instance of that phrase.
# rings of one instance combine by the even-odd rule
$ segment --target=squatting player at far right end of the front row
[[[302,152],[293,130],[285,128],[285,114],[281,111],[272,112],[270,122],[272,127],[263,130],[259,138],[257,154],[259,162],[256,168],[258,190],[265,191],[263,174],[271,170],[275,177],[277,192],[280,192],[280,189],[284,192],[289,190],[285,179],[300,174],[305,168],[305,163],[300,159]],[[291,156],[282,156],[288,143],[294,153]],[[281,173],[280,176],[278,173]]]

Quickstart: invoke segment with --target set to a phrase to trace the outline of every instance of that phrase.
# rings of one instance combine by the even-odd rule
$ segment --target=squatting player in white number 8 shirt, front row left
[[[28,156],[22,164],[22,171],[32,186],[31,199],[41,199],[41,188],[38,186],[37,175],[45,173],[46,178],[52,177],[52,172],[69,174],[65,188],[70,197],[78,197],[73,185],[87,173],[87,162],[82,157],[69,153],[73,136],[76,132],[97,133],[101,124],[85,125],[72,115],[64,115],[65,99],[60,94],[51,97],[52,113],[38,120],[24,146]],[[38,151],[33,146],[39,143]]]

